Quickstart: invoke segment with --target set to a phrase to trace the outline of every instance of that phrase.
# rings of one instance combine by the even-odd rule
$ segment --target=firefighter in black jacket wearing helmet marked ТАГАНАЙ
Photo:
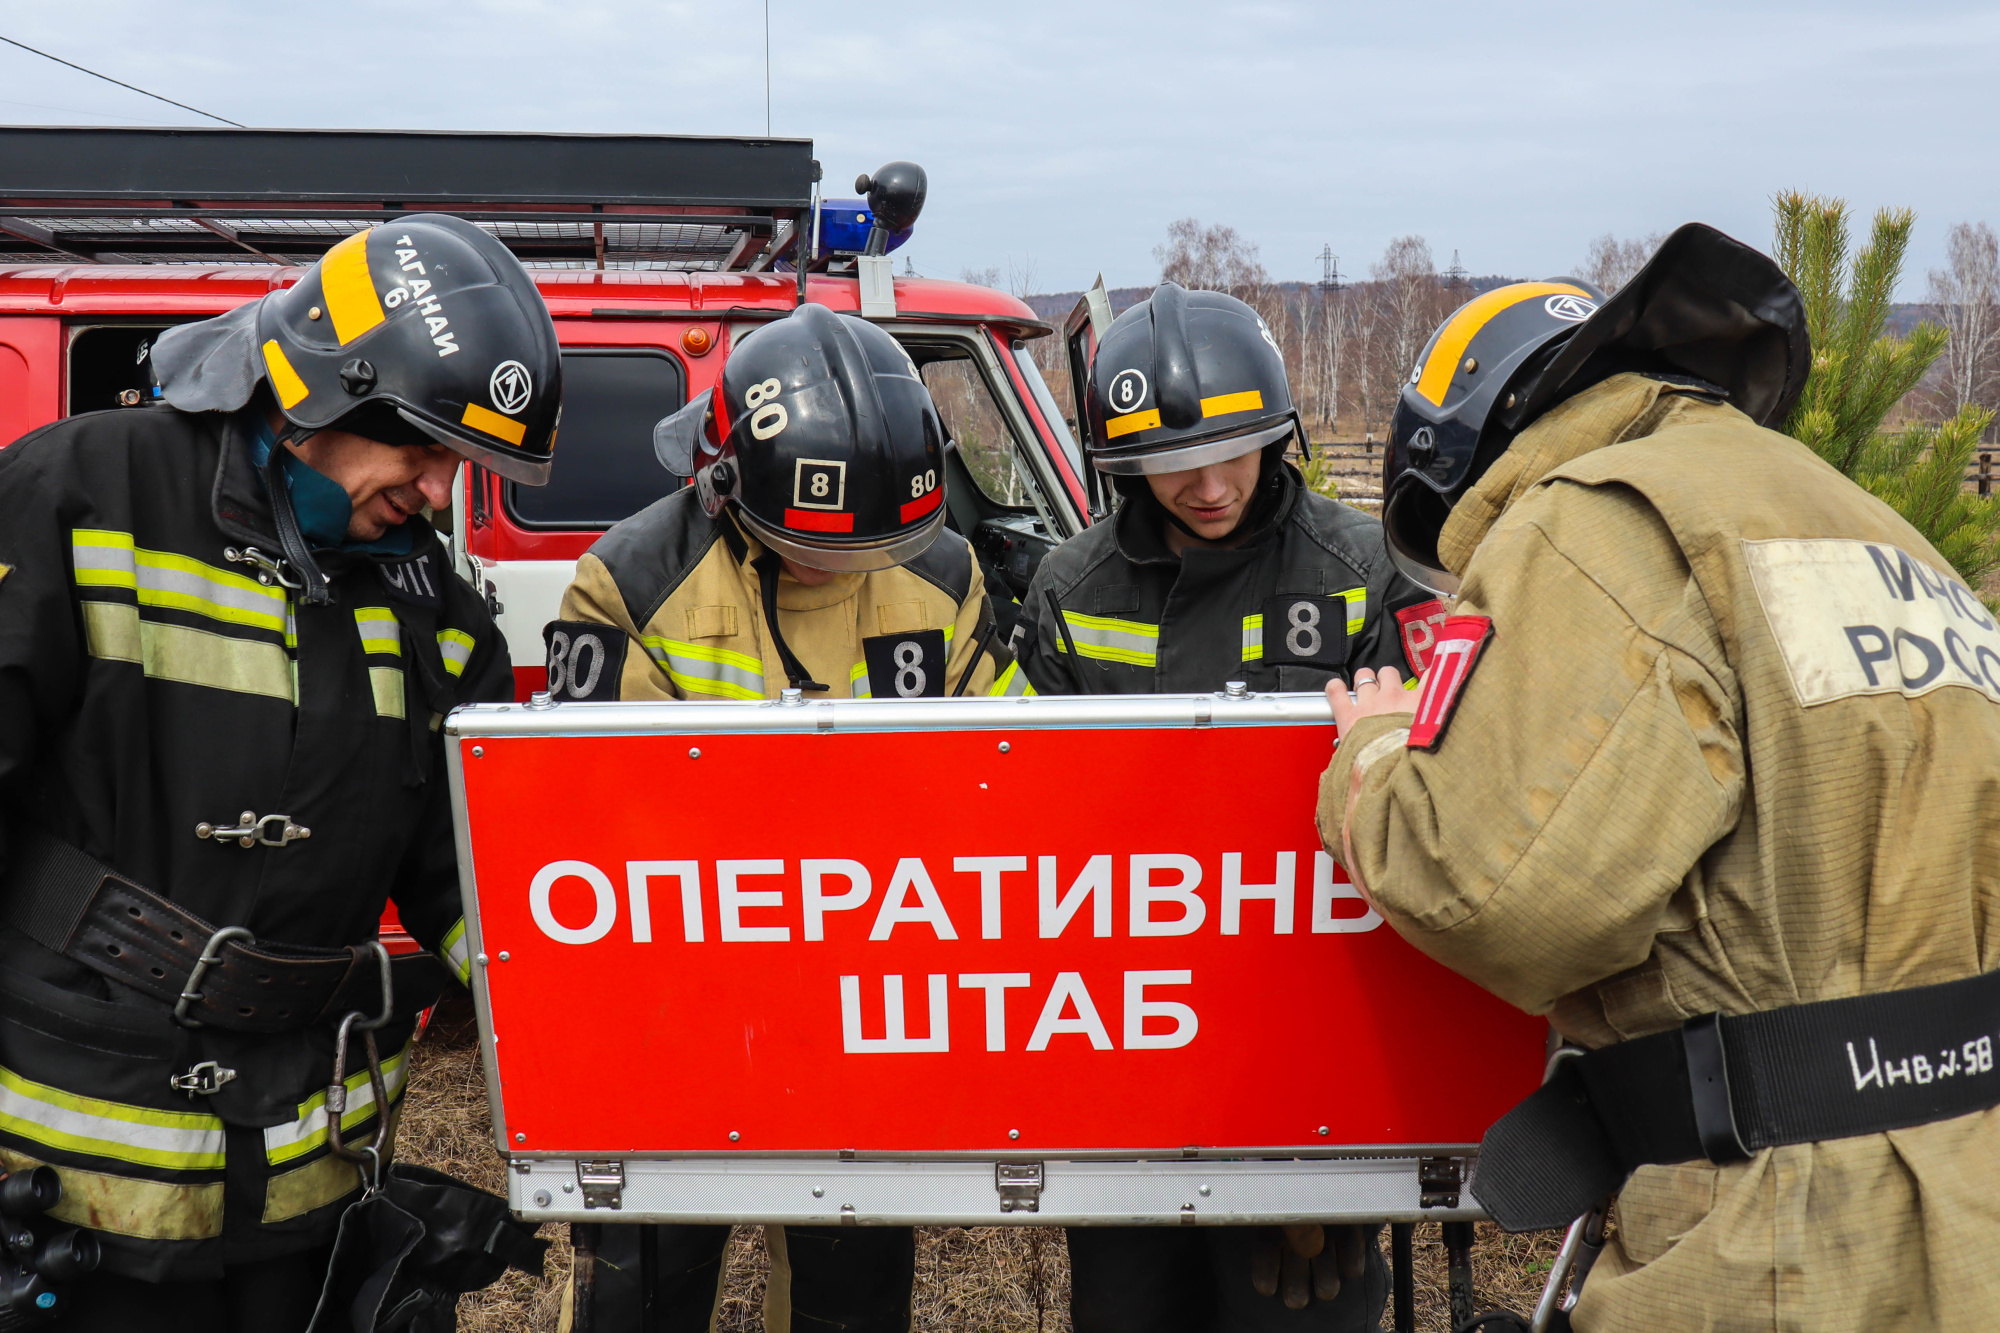
[[[280,1333],[378,1125],[334,1025],[394,975],[394,1101],[444,981],[384,899],[468,971],[438,723],[512,675],[418,510],[546,480],[560,362],[498,240],[410,216],[152,364],[0,450],[0,1169],[102,1243],[64,1327]]]

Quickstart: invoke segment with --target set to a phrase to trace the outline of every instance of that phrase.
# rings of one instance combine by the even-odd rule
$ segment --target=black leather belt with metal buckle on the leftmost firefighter
[[[372,941],[312,949],[218,931],[42,829],[14,825],[10,833],[16,855],[0,885],[0,919],[174,1007],[188,1027],[288,1033],[382,1005]],[[444,967],[424,953],[394,959],[390,975],[398,1015],[434,1005],[444,991]]]

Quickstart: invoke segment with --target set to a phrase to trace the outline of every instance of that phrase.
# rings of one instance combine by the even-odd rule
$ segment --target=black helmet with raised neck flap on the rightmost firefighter
[[[1668,236],[1610,298],[1576,278],[1482,292],[1438,326],[1402,386],[1382,456],[1390,558],[1426,588],[1456,592],[1438,558],[1452,506],[1542,412],[1620,370],[1690,384],[1772,424],[1810,366],[1792,280],[1700,222]]]

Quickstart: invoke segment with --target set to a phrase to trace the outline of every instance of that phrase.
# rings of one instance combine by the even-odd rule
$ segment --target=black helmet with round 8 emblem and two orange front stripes
[[[1306,432],[1278,340],[1224,292],[1162,282],[1120,314],[1090,362],[1090,462],[1136,476],[1226,462]]]

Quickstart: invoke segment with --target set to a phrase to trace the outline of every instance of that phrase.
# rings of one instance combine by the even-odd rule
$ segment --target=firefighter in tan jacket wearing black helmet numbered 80
[[[938,412],[874,324],[824,306],[766,324],[654,448],[694,484],[578,560],[544,630],[556,699],[1030,693],[972,548],[944,526]],[[774,1333],[908,1329],[908,1227],[768,1227],[766,1241]],[[592,1327],[708,1329],[726,1243],[728,1227],[604,1227]]]

